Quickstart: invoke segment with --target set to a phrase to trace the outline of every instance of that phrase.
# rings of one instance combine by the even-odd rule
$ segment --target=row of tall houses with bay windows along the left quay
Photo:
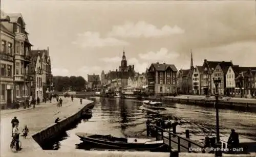
[[[22,14],[1,11],[2,109],[12,107],[16,100],[42,99],[49,92],[52,77],[49,49],[31,50],[32,46]]]

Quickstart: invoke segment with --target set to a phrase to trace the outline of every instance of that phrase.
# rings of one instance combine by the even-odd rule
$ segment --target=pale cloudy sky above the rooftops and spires
[[[255,1],[11,1],[33,49],[49,46],[54,75],[118,68],[123,49],[139,72],[151,63],[189,68],[203,60],[256,66]]]

